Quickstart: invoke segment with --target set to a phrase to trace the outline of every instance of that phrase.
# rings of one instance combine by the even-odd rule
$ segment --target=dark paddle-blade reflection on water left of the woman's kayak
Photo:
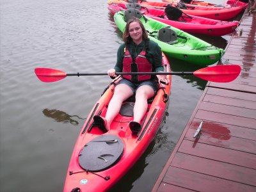
[[[73,118],[79,118],[85,120],[86,118],[81,118],[77,115],[68,115],[64,111],[60,111],[57,109],[44,109],[43,113],[45,116],[49,118],[53,118],[56,122],[63,122],[64,124],[72,124],[72,125],[78,125],[78,121],[74,120]]]

